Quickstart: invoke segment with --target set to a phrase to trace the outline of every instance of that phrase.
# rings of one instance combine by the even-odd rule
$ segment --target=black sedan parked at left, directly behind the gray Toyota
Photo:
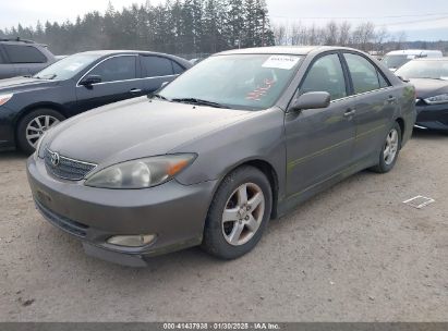
[[[144,51],[88,51],[32,77],[0,81],[0,148],[33,152],[49,127],[86,110],[147,95],[192,64]]]

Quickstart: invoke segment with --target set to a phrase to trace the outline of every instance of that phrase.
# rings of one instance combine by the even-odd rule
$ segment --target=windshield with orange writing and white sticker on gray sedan
[[[195,99],[227,108],[267,109],[280,97],[300,59],[281,54],[215,56],[190,69],[159,96],[180,102]]]

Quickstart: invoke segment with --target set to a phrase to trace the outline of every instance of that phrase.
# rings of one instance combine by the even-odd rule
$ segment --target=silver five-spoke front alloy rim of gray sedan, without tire
[[[232,246],[246,244],[257,232],[265,213],[265,196],[254,183],[240,185],[222,212],[222,234]]]

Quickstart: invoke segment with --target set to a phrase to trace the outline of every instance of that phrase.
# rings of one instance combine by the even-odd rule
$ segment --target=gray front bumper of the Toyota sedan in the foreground
[[[182,185],[175,180],[148,189],[105,189],[47,172],[43,160],[27,163],[37,209],[53,225],[83,241],[85,252],[108,261],[145,266],[145,258],[201,244],[216,182]],[[156,234],[148,246],[107,244],[113,235]]]

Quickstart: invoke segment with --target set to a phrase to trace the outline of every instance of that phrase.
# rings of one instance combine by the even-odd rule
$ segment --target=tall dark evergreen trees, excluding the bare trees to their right
[[[274,45],[265,0],[166,0],[94,11],[62,24],[0,29],[0,38],[47,44],[56,54],[92,49],[140,49],[177,54],[214,53]]]

